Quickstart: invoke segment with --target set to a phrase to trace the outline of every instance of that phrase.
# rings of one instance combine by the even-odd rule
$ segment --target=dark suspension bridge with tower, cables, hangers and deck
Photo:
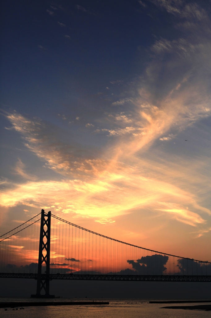
[[[211,262],[132,245],[90,231],[44,210],[0,236],[0,278],[211,282]],[[44,294],[42,294],[44,293]]]

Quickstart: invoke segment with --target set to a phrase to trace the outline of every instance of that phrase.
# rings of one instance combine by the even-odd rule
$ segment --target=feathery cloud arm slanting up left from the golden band
[[[40,119],[29,120],[16,112],[6,116],[12,124],[12,129],[22,135],[24,145],[45,162],[46,168],[65,176],[76,177],[81,173],[95,174],[105,164],[105,161],[99,158],[82,159],[80,148],[74,144],[60,142],[54,128]]]

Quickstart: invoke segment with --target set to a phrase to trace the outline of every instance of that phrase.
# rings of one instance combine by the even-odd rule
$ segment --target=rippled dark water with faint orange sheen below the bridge
[[[149,300],[141,299],[71,299],[59,298],[54,301],[109,301],[109,305],[79,305],[79,306],[46,306],[25,307],[12,310],[0,309],[1,318],[183,318],[211,317],[211,311],[165,309],[171,304],[149,304]],[[0,301],[33,301],[30,298],[0,298]],[[38,301],[34,299],[34,301]],[[41,300],[43,301],[43,299]],[[50,300],[52,301],[52,300]],[[211,304],[211,303],[205,303]],[[177,306],[177,304],[173,304]],[[201,303],[178,304],[178,306],[201,305]]]

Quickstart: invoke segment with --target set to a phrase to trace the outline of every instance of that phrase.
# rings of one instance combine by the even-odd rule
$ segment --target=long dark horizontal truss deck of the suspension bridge
[[[47,277],[48,276],[48,277]],[[37,279],[35,273],[0,273],[0,278]],[[109,274],[42,274],[42,280],[112,280],[112,281],[174,281],[211,282],[211,275],[109,275]]]

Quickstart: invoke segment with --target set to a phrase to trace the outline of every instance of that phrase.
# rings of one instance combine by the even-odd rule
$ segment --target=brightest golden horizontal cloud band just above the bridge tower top
[[[57,213],[76,213],[98,217],[99,220],[102,216],[109,219],[127,214],[137,207],[151,207],[192,226],[205,222],[198,213],[210,214],[208,209],[197,204],[194,195],[179,187],[141,176],[134,168],[122,168],[121,173],[115,173],[116,169],[119,169],[117,165],[112,166],[110,171],[107,169],[98,179],[94,178],[89,182],[38,181],[16,185],[15,189],[1,193],[1,204],[8,207],[29,205],[29,202],[30,205],[34,202],[37,207],[44,203],[47,206],[53,204]],[[190,208],[187,209],[187,206]],[[198,213],[191,211],[192,209]]]

